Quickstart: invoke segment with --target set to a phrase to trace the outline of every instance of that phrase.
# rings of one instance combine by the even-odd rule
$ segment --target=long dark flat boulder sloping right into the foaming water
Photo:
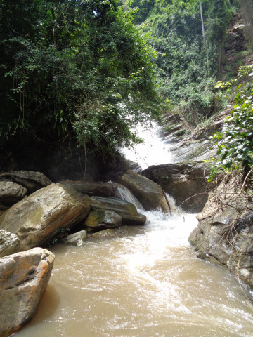
[[[122,223],[126,225],[144,225],[146,221],[146,217],[138,213],[133,204],[117,198],[91,197],[91,209],[114,211],[122,217]]]

